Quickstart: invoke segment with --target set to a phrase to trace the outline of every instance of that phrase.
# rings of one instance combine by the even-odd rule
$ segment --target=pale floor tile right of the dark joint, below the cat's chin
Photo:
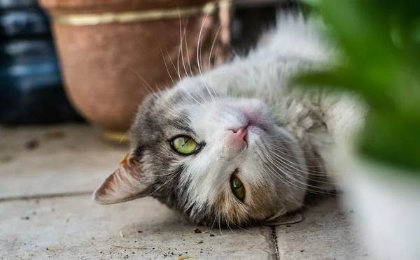
[[[368,259],[351,226],[352,214],[340,209],[337,198],[324,198],[310,206],[302,222],[276,227],[279,258]]]

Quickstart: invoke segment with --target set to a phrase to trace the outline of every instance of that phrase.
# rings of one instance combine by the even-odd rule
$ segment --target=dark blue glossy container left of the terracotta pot
[[[36,1],[0,0],[0,124],[73,120],[48,18]]]

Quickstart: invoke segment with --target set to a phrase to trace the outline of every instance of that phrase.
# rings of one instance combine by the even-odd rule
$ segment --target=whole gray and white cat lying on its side
[[[302,15],[280,16],[246,57],[183,78],[141,103],[132,150],[97,203],[153,196],[196,224],[293,222],[309,192],[334,192],[332,147],[360,124],[349,96],[302,91],[290,77],[334,51]]]

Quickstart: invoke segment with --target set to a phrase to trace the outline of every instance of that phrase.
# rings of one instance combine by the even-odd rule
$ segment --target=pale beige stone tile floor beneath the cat
[[[233,230],[184,223],[152,198],[94,204],[126,151],[85,125],[0,127],[0,259],[367,259],[339,198],[298,224]]]

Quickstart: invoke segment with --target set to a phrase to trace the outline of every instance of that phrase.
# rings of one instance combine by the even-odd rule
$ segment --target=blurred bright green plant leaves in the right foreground
[[[420,1],[303,2],[321,15],[344,57],[330,71],[304,73],[297,81],[362,95],[370,111],[360,152],[420,173]]]

